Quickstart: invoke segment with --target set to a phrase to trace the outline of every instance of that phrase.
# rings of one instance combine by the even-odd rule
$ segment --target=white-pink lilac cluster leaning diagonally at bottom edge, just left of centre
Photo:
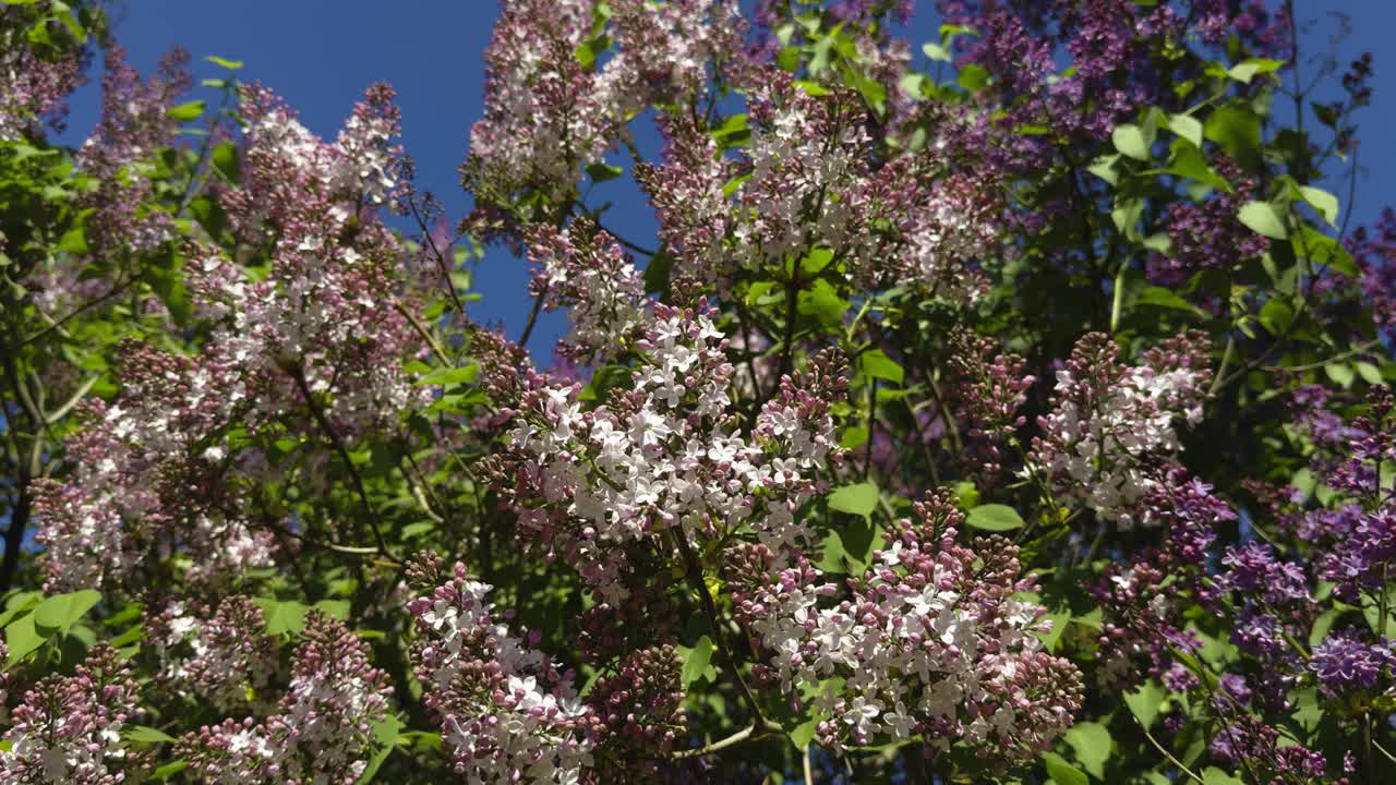
[[[599,722],[544,654],[494,619],[490,587],[463,564],[408,603],[423,703],[468,782],[575,785],[591,765]],[[536,643],[536,640],[533,641]]]

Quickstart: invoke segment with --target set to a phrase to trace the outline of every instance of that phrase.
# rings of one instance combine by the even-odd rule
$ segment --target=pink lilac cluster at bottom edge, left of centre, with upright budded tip
[[[311,610],[303,636],[276,714],[225,719],[180,739],[200,782],[353,785],[363,775],[392,687],[341,622]]]

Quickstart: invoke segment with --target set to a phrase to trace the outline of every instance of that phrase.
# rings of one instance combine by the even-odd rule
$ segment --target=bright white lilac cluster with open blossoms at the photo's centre
[[[564,555],[610,602],[625,596],[624,546],[751,527],[773,549],[814,542],[796,511],[839,455],[829,405],[843,394],[832,355],[786,377],[743,436],[733,366],[715,310],[656,303],[631,388],[584,411],[581,386],[532,381],[496,486],[525,531]]]

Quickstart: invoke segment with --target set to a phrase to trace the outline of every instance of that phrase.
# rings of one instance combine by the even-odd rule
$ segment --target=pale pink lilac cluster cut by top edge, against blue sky
[[[692,101],[708,64],[741,49],[738,20],[730,0],[503,1],[484,52],[484,117],[462,169],[470,189],[497,205],[526,193],[568,204],[582,169],[625,138],[635,115]],[[578,56],[603,35],[611,56]]]

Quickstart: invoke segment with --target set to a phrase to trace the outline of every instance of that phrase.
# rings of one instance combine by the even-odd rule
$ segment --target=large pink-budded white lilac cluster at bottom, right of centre
[[[1018,549],[997,536],[959,545],[963,520],[946,494],[928,494],[847,581],[846,599],[803,556],[780,570],[762,545],[729,552],[737,617],[769,656],[769,676],[787,694],[825,684],[812,697],[828,717],[824,743],[921,735],[938,750],[963,742],[1007,763],[1050,749],[1072,725],[1081,673],[1043,650],[1044,609],[1015,596],[1034,587]]]

